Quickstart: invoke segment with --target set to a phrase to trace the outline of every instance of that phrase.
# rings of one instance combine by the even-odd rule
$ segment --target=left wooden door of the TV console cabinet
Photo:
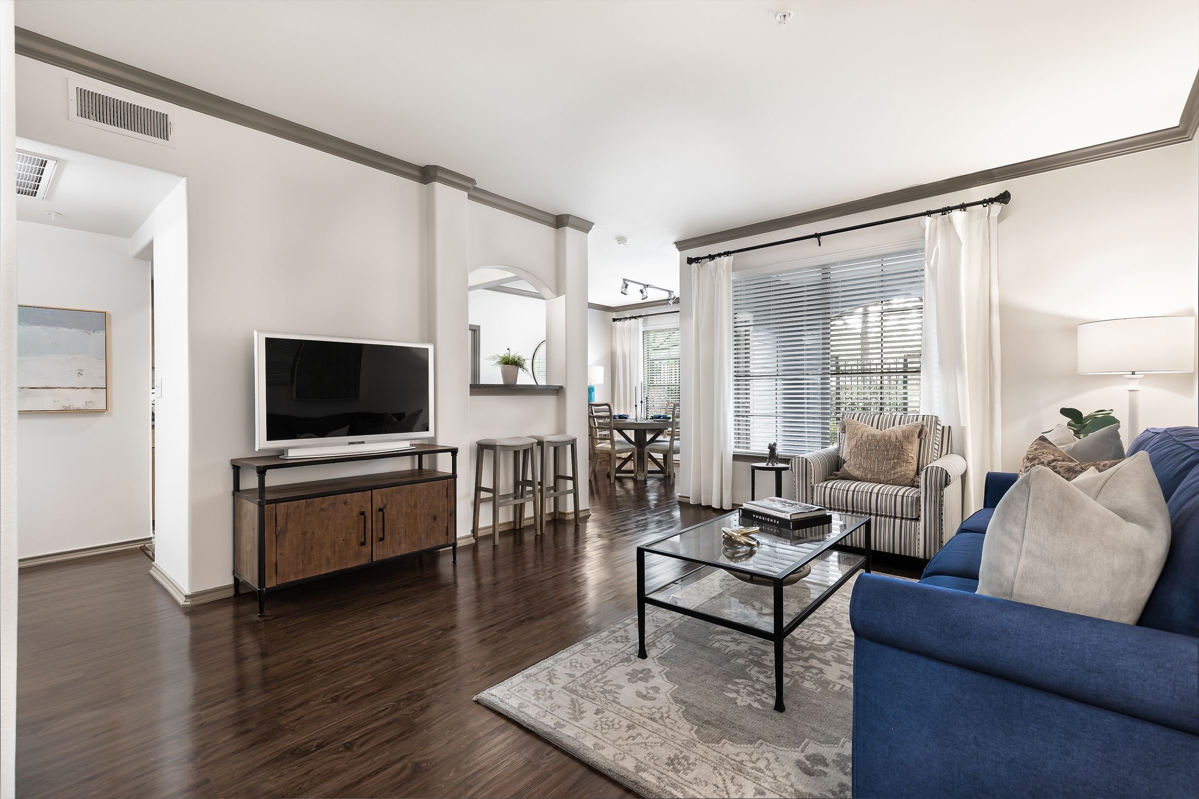
[[[275,506],[276,582],[370,562],[370,492]]]

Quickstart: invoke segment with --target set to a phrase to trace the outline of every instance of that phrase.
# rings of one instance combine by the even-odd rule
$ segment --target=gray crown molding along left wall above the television
[[[453,186],[466,192],[469,199],[476,202],[499,208],[500,211],[507,211],[525,219],[540,222],[550,228],[574,228],[576,230],[583,230],[583,232],[591,230],[591,223],[585,219],[565,213],[553,214],[548,211],[535,208],[531,205],[510,200],[494,192],[481,189],[475,184],[472,177],[446,169],[445,167],[438,167],[436,164],[418,167],[402,158],[396,158],[378,150],[370,150],[353,141],[321,133],[297,122],[260,111],[257,108],[236,103],[218,95],[155,74],[153,72],[147,72],[146,69],[122,63],[115,59],[74,47],[73,44],[60,42],[25,28],[16,28],[14,36],[17,55],[24,55],[35,61],[42,61],[43,63],[61,67],[80,75],[103,80],[107,84],[120,86],[121,89],[127,89],[146,97],[153,97],[155,99],[161,99],[180,108],[215,116],[225,122],[260,131],[418,183],[438,182]]]

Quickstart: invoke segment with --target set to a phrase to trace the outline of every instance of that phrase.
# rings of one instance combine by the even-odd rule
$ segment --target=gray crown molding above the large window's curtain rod
[[[728,230],[704,234],[703,236],[694,236],[693,238],[683,238],[675,242],[675,248],[679,252],[686,252],[698,247],[709,247],[711,244],[718,244],[721,242],[733,241],[736,238],[746,238],[748,236],[759,236],[761,234],[770,234],[777,230],[787,230],[788,228],[797,228],[813,222],[824,222],[825,219],[848,217],[863,211],[876,211],[893,205],[902,205],[904,202],[923,200],[940,194],[950,194],[951,192],[975,188],[976,186],[999,183],[1016,177],[1028,177],[1029,175],[1036,175],[1038,172],[1065,169],[1066,167],[1077,167],[1078,164],[1086,164],[1092,161],[1102,161],[1104,158],[1115,158],[1116,156],[1127,156],[1133,152],[1152,150],[1155,147],[1165,147],[1171,144],[1183,144],[1194,139],[1197,128],[1199,128],[1199,73],[1195,74],[1195,79],[1191,84],[1191,93],[1187,95],[1187,102],[1182,108],[1179,123],[1171,128],[1141,133],[1126,139],[1116,139],[1115,141],[1105,141],[1089,147],[1079,147],[1078,150],[1068,150],[1053,156],[1022,161],[1019,163],[999,167],[996,169],[984,169],[982,171],[970,172],[969,175],[947,177],[942,181],[933,183],[909,186],[908,188],[875,194],[874,196],[868,196],[861,200],[830,205],[813,211],[805,211],[788,217],[779,217],[777,219],[755,222],[749,225],[741,225],[740,228],[729,228]]]

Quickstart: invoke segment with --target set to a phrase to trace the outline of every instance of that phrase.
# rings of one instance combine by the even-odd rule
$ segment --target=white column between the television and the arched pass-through
[[[470,535],[470,332],[466,280],[466,192],[440,182],[424,187],[428,220],[429,340],[434,352],[434,441],[458,447],[458,535]],[[406,298],[415,301],[415,298]],[[450,458],[439,456],[439,468]]]

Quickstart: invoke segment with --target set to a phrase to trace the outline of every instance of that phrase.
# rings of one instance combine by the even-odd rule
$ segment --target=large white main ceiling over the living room
[[[1194,0],[18,0],[17,24],[591,219],[605,304],[675,287],[679,238],[1174,126],[1199,67]]]

